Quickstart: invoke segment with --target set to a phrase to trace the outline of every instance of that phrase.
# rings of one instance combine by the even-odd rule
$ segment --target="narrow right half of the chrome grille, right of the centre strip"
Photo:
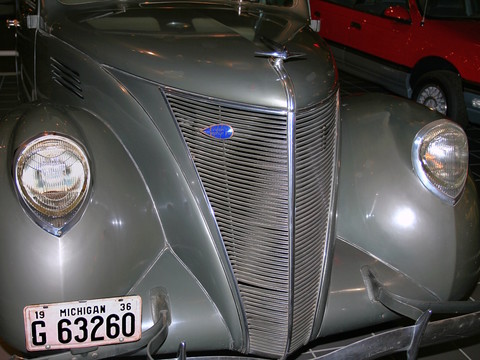
[[[336,166],[337,101],[298,112],[295,149],[295,269],[290,349],[311,335],[329,236]]]

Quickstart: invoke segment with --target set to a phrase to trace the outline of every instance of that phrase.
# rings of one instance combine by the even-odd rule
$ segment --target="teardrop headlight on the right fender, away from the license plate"
[[[412,163],[427,189],[454,205],[467,180],[468,141],[465,132],[448,120],[426,125],[413,142]]]

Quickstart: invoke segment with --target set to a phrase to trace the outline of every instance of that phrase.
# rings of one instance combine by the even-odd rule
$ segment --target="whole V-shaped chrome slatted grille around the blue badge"
[[[284,356],[308,341],[316,312],[331,210],[335,98],[297,114],[294,249],[289,239],[287,113],[172,89],[164,93],[238,282],[249,349]],[[202,133],[216,124],[232,126],[233,137],[219,140]]]

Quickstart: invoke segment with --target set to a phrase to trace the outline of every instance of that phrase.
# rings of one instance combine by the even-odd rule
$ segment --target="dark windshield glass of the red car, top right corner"
[[[480,18],[480,0],[418,0],[418,7],[427,18]]]

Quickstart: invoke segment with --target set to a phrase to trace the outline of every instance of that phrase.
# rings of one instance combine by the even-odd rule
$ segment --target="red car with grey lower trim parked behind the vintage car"
[[[310,0],[339,68],[480,123],[480,0]]]

